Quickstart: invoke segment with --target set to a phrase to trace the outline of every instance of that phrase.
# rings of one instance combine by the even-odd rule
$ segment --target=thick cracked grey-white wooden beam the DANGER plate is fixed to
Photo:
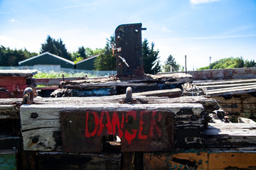
[[[60,113],[61,112],[84,112],[87,111],[167,111],[174,113],[175,118],[184,119],[184,123],[196,121],[201,118],[203,106],[198,103],[158,103],[158,104],[120,104],[120,103],[97,103],[97,104],[37,104],[21,106],[21,130],[23,136],[23,148],[25,150],[60,151],[62,149],[60,137]],[[195,118],[192,118],[192,117]],[[139,118],[139,115],[137,116]],[[136,118],[137,118],[136,117]],[[164,118],[164,115],[163,115]],[[125,118],[126,119],[126,118]],[[111,117],[110,117],[111,120]],[[161,119],[160,119],[161,120]],[[112,120],[113,121],[113,120]],[[121,120],[120,120],[121,121]],[[144,120],[143,120],[144,121]],[[181,120],[179,120],[181,121]],[[186,122],[187,121],[187,122]],[[126,120],[124,120],[126,122]],[[141,121],[139,121],[141,122]],[[178,122],[177,122],[178,123]],[[197,123],[201,124],[201,121]],[[177,125],[176,130],[183,132],[190,125]],[[154,128],[154,127],[153,127]],[[191,128],[203,130],[196,122]],[[139,131],[138,131],[139,132]],[[183,133],[185,134],[185,133]],[[202,132],[200,132],[202,134]],[[191,135],[191,134],[188,134]],[[144,137],[144,136],[143,136]],[[142,138],[143,138],[142,137]],[[193,135],[191,143],[196,143],[201,137]],[[200,138],[200,140],[203,140]],[[186,142],[186,138],[176,138],[176,143]],[[190,145],[190,144],[189,144]],[[192,145],[191,145],[192,146]]]

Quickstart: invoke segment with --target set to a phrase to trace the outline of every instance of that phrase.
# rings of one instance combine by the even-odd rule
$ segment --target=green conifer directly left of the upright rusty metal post
[[[110,36],[110,39],[107,39],[105,48],[100,52],[95,60],[95,68],[97,70],[107,71],[116,69],[116,59],[112,55],[112,44],[114,44],[114,35]]]

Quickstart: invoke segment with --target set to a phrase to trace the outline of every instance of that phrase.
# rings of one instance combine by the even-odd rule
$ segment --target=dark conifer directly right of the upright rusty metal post
[[[146,74],[156,74],[161,71],[160,61],[159,61],[159,50],[154,50],[154,42],[151,43],[149,47],[148,40],[142,42],[142,57],[143,57],[143,67],[144,73]]]

